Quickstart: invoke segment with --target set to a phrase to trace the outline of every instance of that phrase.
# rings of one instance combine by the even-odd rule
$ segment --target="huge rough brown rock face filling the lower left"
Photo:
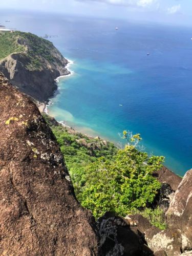
[[[0,254],[97,254],[92,214],[38,109],[1,74],[0,98]]]

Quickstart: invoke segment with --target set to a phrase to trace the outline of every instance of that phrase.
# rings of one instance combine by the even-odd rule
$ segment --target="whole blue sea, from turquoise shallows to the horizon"
[[[146,150],[165,156],[174,172],[192,167],[191,29],[40,13],[1,18],[58,35],[54,45],[74,61],[74,75],[61,79],[49,107],[57,120],[116,143],[123,130],[140,133]]]

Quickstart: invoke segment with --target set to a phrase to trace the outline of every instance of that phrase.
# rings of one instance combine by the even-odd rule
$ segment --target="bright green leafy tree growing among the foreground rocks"
[[[142,209],[153,202],[161,186],[152,174],[164,158],[138,151],[139,134],[128,137],[124,131],[123,136],[128,143],[113,161],[102,157],[86,168],[86,183],[78,198],[96,218],[106,210],[125,216],[130,210]]]

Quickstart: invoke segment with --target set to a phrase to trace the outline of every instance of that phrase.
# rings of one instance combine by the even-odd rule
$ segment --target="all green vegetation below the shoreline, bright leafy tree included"
[[[161,168],[164,158],[138,151],[139,134],[124,131],[127,144],[119,150],[113,143],[56,126],[50,117],[44,117],[65,156],[82,206],[91,209],[96,218],[105,211],[122,217],[141,212],[152,224],[165,228],[163,212],[147,208],[161,186],[152,174]]]

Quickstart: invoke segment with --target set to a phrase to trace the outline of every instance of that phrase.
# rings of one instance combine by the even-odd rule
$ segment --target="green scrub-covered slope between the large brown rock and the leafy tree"
[[[62,125],[55,126],[50,122],[50,118],[44,118],[51,127],[61,152],[65,156],[65,161],[70,172],[70,176],[78,198],[80,189],[86,182],[84,176],[86,166],[95,162],[99,157],[112,159],[118,149],[111,142],[102,141],[98,138],[90,138],[81,133],[72,133]]]

